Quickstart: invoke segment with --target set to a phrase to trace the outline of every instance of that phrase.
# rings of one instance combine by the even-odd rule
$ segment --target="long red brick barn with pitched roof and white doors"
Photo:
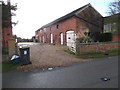
[[[99,41],[103,30],[103,18],[91,4],[87,4],[35,31],[38,42],[67,45],[74,44],[77,37],[89,35]]]

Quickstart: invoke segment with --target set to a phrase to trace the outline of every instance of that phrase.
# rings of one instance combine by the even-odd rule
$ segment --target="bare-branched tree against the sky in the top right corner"
[[[108,13],[109,15],[120,13],[120,0],[114,0],[113,2],[110,2]]]

